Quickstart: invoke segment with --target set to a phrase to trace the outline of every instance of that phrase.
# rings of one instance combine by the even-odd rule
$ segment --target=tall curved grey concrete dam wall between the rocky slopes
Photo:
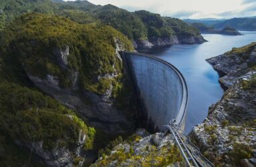
[[[123,52],[147,128],[164,130],[176,120],[184,130],[188,88],[182,73],[170,63],[141,53]]]

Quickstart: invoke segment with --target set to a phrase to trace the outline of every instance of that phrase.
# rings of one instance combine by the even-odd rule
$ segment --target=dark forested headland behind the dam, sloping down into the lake
[[[178,43],[203,43],[200,31],[180,19],[149,11],[131,13],[113,5],[89,11],[94,17],[127,35],[135,47],[159,47]]]

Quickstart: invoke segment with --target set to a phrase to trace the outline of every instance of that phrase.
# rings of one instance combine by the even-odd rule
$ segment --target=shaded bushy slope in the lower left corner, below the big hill
[[[84,161],[84,151],[92,149],[95,130],[74,111],[34,88],[6,44],[1,37],[1,165],[25,166],[30,159],[30,163],[35,162],[30,158],[31,150],[50,166],[71,166],[74,159]]]

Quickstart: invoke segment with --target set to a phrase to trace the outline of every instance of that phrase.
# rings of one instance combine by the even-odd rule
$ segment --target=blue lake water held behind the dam
[[[218,82],[218,73],[205,59],[225,53],[233,47],[241,47],[256,41],[256,32],[241,33],[244,35],[202,34],[208,42],[139,50],[172,63],[184,75],[189,94],[186,133],[206,118],[208,108],[218,102],[224,94]]]

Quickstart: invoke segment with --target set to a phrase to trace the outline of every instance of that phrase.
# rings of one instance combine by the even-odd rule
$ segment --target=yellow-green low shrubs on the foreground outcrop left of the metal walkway
[[[146,144],[143,150],[135,152],[136,144],[141,144],[141,136],[133,135],[128,140],[117,138],[105,150],[100,150],[101,158],[91,166],[108,166],[127,164],[131,166],[168,166],[183,163],[182,154],[178,147],[168,142],[163,146]]]

